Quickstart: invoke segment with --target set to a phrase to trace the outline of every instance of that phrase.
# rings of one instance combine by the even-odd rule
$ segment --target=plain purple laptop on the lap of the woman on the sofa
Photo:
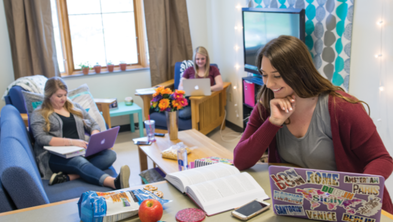
[[[96,133],[90,136],[89,144],[86,148],[85,157],[94,155],[97,152],[101,152],[106,149],[110,149],[115,145],[117,134],[119,133],[120,127],[114,127],[106,131]]]

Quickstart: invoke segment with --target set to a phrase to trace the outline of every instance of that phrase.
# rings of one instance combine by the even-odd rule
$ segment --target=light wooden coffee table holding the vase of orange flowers
[[[165,134],[165,137],[156,136],[155,138],[157,141],[153,142],[150,146],[138,145],[140,172],[148,170],[148,157],[151,158],[165,174],[179,171],[177,160],[161,157],[161,151],[178,142],[183,142],[190,148],[193,146],[198,147],[188,154],[188,162],[209,156],[233,159],[232,152],[195,129],[179,131],[177,140],[169,140],[168,134]]]

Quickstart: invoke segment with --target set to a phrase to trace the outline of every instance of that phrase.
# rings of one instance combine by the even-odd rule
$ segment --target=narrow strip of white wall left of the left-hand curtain
[[[14,68],[12,66],[12,55],[10,38],[8,37],[8,28],[6,14],[4,12],[3,0],[0,0],[0,96],[3,97],[7,86],[14,81]],[[0,110],[6,102],[0,100]]]

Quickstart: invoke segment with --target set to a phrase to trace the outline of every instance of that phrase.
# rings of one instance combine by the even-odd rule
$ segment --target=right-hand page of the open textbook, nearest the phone
[[[208,214],[230,210],[257,198],[269,198],[257,181],[248,173],[190,185],[186,187],[186,192]]]

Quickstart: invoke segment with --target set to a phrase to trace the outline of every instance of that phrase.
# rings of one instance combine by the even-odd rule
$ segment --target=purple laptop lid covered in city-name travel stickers
[[[273,165],[269,175],[277,215],[359,222],[381,218],[381,176]]]

